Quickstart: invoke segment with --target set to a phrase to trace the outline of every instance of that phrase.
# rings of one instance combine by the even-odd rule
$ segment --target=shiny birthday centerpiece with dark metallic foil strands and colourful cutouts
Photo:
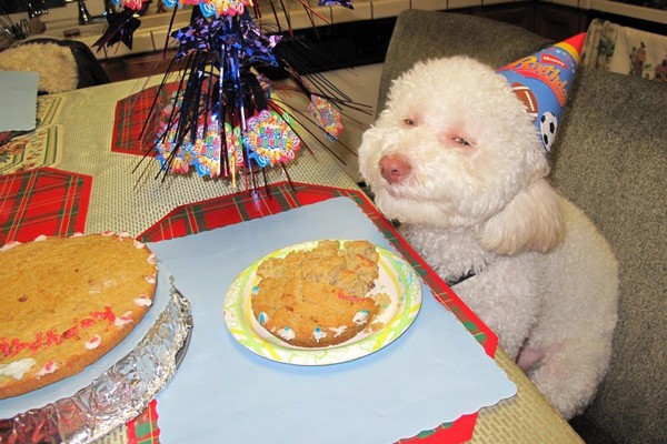
[[[269,4],[279,22],[276,11],[285,11],[283,4],[273,1],[269,0]],[[115,3],[117,10],[108,14],[108,30],[96,46],[122,42],[131,49],[132,33],[140,26],[136,14],[145,13],[151,1]],[[173,14],[186,4],[193,8],[187,27],[172,30],[170,26],[169,30],[177,48],[160,89],[176,79],[176,91],[166,101],[153,101],[140,137],[150,141],[146,151],[158,159],[158,175],[195,171],[201,176],[228,178],[233,186],[241,175],[247,184],[255,184],[255,175],[266,167],[285,168],[301,147],[312,151],[300,135],[308,131],[303,122],[292,117],[289,105],[273,98],[272,82],[261,74],[267,68],[289,79],[290,89],[309,99],[311,115],[299,112],[300,119],[309,120],[327,139],[337,141],[342,131],[341,109],[354,103],[338,89],[329,88],[322,77],[312,83],[300,75],[295,69],[299,57],[296,51],[276,51],[283,39],[292,38],[291,29],[265,33],[256,23],[259,7],[251,0],[163,3],[173,7]],[[315,23],[320,16],[308,3],[301,4]],[[348,0],[320,0],[320,4],[352,8]],[[156,95],[159,97],[165,94]]]

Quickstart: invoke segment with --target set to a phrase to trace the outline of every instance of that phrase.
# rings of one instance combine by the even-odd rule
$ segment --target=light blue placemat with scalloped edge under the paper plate
[[[426,285],[412,326],[357,361],[296,366],[241,346],[222,315],[231,281],[265,254],[317,239],[394,250],[346,198],[150,245],[195,322],[186,359],[158,396],[160,442],[387,444],[516,394]]]

